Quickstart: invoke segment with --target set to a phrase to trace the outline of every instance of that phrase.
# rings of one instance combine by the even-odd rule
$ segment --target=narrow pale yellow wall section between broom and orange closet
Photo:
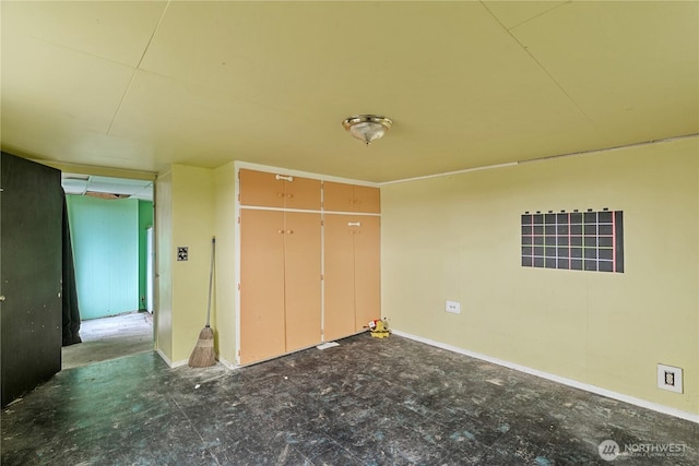
[[[216,235],[216,299],[212,310],[218,359],[236,365],[235,326],[235,203],[236,169],[230,163],[214,170],[214,228]]]

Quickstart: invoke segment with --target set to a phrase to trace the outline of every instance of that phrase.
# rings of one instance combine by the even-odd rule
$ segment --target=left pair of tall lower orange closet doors
[[[240,210],[240,360],[320,342],[320,214]]]

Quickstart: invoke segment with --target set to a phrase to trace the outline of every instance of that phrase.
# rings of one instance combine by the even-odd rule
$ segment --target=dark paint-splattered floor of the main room
[[[340,344],[233,371],[154,353],[64,370],[2,411],[1,463],[699,464],[699,425],[395,335]],[[605,440],[637,451],[609,463]]]

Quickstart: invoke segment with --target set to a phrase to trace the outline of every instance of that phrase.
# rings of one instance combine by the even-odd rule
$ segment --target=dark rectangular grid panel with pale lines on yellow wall
[[[624,272],[621,211],[522,214],[522,266]]]

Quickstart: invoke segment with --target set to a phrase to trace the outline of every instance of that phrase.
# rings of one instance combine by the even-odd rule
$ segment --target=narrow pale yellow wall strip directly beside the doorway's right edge
[[[156,309],[155,348],[173,360],[173,174],[157,177],[155,183]]]

